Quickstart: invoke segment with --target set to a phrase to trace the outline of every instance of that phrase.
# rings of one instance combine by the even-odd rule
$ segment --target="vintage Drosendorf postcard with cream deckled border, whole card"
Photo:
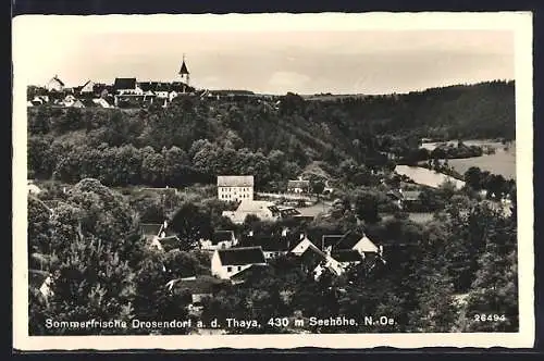
[[[15,349],[533,347],[531,13],[25,15],[13,71]]]

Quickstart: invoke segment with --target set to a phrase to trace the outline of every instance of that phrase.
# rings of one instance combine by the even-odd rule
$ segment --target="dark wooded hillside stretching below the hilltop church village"
[[[316,161],[333,176],[347,159],[383,166],[390,153],[417,150],[422,137],[515,137],[512,82],[279,99],[180,97],[166,109],[131,112],[29,108],[30,175],[76,182],[100,174],[111,185],[161,185],[250,173],[267,185],[293,178]]]

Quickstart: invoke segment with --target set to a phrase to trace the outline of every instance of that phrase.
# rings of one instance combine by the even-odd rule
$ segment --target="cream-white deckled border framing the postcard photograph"
[[[207,32],[224,30],[423,30],[504,29],[515,33],[516,132],[518,183],[519,333],[357,334],[357,335],[226,335],[226,336],[33,336],[28,335],[26,242],[26,79],[25,47],[39,41],[40,26],[70,32]],[[96,26],[100,21],[100,26]],[[46,23],[47,22],[47,25]],[[532,14],[496,13],[366,13],[366,14],[227,14],[227,15],[24,15],[13,20],[13,340],[20,350],[118,350],[232,348],[397,348],[516,347],[534,343]]]

